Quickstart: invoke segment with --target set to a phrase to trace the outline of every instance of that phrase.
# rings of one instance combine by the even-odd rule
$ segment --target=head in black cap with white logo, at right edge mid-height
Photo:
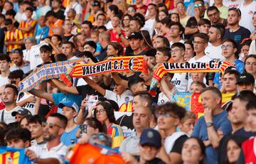
[[[250,90],[253,92],[255,88],[255,79],[250,73],[243,73],[238,77],[237,81],[238,92],[243,90]]]

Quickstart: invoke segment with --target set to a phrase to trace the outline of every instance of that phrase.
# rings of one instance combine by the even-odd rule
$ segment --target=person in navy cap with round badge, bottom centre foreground
[[[129,153],[122,153],[125,162],[164,164],[163,160],[156,158],[161,148],[161,135],[154,129],[145,129],[139,141],[139,156],[132,156]]]

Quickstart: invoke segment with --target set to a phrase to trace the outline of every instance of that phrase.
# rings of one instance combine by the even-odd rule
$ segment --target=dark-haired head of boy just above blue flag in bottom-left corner
[[[31,132],[28,129],[11,129],[6,133],[7,146],[11,148],[28,148],[31,141]]]

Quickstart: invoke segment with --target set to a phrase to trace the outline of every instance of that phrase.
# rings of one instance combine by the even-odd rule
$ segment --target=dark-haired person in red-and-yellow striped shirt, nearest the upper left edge
[[[7,28],[4,38],[4,45],[6,45],[7,48],[6,52],[11,52],[13,49],[21,48],[24,38],[21,30],[14,27],[11,19],[6,19],[4,24]]]

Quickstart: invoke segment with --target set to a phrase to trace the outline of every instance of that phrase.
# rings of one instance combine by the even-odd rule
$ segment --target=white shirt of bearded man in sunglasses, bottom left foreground
[[[35,152],[38,158],[46,159],[46,158],[56,158],[60,163],[64,163],[66,151],[68,147],[64,145],[64,143],[58,144],[53,148],[50,148],[50,151],[47,148],[47,143],[44,146],[32,146],[29,147],[31,151]]]

